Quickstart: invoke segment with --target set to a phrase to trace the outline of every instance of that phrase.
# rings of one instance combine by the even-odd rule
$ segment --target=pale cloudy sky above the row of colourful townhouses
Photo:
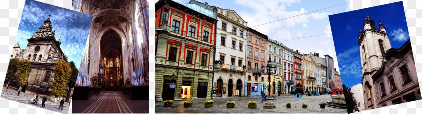
[[[154,0],[157,2],[158,0]],[[188,3],[190,0],[173,0]],[[331,7],[349,0],[197,0],[209,5],[235,10],[248,26]],[[284,19],[270,24],[252,27],[301,53],[316,52],[320,56],[330,55],[338,68],[328,15],[349,11],[349,3],[320,11]],[[326,35],[322,35],[326,34]],[[319,36],[315,36],[319,35]],[[311,38],[303,38],[315,36]]]

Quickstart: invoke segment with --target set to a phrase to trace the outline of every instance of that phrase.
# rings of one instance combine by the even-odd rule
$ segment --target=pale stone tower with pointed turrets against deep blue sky
[[[375,28],[374,20],[369,16],[364,19],[364,31],[359,30],[359,50],[362,65],[362,84],[365,97],[365,109],[379,107],[376,99],[372,75],[381,67],[385,52],[391,48],[386,28],[379,21],[379,29]]]

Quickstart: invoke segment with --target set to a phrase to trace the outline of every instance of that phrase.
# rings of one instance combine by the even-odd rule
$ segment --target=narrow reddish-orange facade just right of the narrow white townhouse
[[[303,91],[303,69],[302,69],[303,58],[299,50],[294,52],[294,79],[296,90]]]

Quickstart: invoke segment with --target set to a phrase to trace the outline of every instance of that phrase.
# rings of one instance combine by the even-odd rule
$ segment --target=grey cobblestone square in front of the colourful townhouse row
[[[173,107],[168,108],[164,108],[163,105],[156,105],[155,113],[347,113],[346,109],[327,106],[320,108],[320,103],[332,100],[330,95],[304,96],[303,98],[295,98],[293,95],[276,96],[276,100],[274,100],[275,109],[263,109],[264,103],[261,103],[261,98],[234,100],[236,101],[235,108],[226,108],[225,100],[207,100],[213,100],[214,107],[204,108],[203,102],[194,102],[190,108],[184,108],[182,104],[173,103]],[[257,109],[248,108],[248,101],[250,100],[257,101]],[[291,108],[286,108],[287,103],[291,103]],[[302,104],[307,104],[308,107],[304,109]]]

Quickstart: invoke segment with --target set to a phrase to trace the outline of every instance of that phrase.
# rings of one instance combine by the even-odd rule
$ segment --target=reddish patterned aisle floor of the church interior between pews
[[[101,92],[89,100],[73,100],[73,113],[148,113],[148,100],[130,100],[120,92]]]

